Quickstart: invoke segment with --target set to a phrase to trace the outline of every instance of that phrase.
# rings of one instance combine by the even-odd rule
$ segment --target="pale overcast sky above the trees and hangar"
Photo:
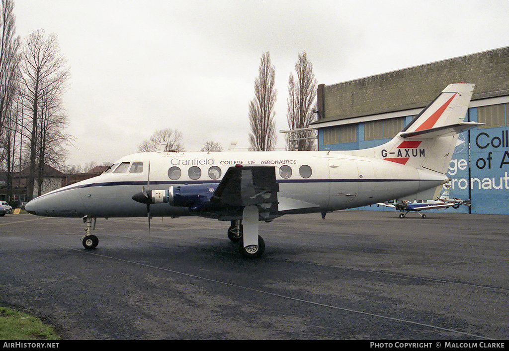
[[[288,129],[288,77],[303,51],[329,85],[509,45],[507,0],[14,3],[16,34],[55,33],[68,60],[71,165],[116,161],[166,127],[183,133],[186,151],[207,140],[246,149],[266,51],[279,131]]]

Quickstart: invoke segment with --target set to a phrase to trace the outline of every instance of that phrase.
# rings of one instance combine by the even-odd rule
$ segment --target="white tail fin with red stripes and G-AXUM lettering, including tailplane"
[[[450,84],[391,141],[355,152],[446,174],[458,134],[479,124],[464,122],[474,84]]]

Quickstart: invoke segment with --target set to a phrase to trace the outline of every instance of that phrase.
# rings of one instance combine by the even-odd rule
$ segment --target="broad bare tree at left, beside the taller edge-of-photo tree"
[[[26,137],[30,142],[29,177],[27,180],[28,199],[32,199],[36,164],[43,168],[48,151],[48,137],[53,142],[53,150],[62,155],[62,142],[69,141],[69,136],[62,133],[66,119],[62,114],[60,96],[68,78],[69,69],[60,52],[55,34],[46,37],[44,30],[34,31],[26,37],[21,47],[20,84],[23,88],[26,109],[30,111],[31,120]],[[59,112],[58,112],[59,111]],[[59,116],[60,115],[60,116]],[[65,119],[59,123],[59,118]],[[60,131],[60,133],[59,133]],[[58,145],[58,147],[55,147]],[[39,160],[38,160],[39,159]],[[56,157],[54,158],[56,160]],[[41,165],[41,167],[38,167]],[[42,169],[41,169],[42,171]],[[42,173],[39,172],[39,184]]]

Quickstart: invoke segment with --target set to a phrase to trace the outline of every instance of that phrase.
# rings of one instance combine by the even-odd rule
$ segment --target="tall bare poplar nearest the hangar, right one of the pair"
[[[295,64],[297,79],[290,73],[288,79],[288,126],[290,130],[305,129],[314,121],[313,107],[316,107],[317,80],[313,73],[313,64],[307,59],[306,52],[299,54]],[[297,133],[295,133],[297,135]],[[298,133],[300,138],[297,145],[287,135],[286,142],[289,150],[309,151],[315,148],[315,139],[309,132]],[[297,147],[296,147],[297,146]]]

